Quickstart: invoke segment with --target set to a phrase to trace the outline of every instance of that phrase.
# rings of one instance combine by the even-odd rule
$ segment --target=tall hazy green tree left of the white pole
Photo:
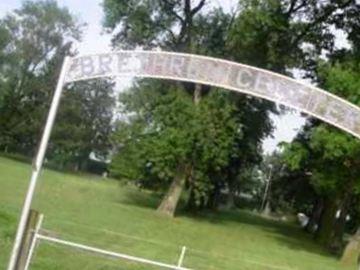
[[[0,149],[31,155],[55,77],[71,40],[80,38],[80,26],[55,1],[26,1],[0,20],[0,32]]]

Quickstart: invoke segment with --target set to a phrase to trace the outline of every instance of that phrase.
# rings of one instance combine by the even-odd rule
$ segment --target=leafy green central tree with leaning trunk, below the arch
[[[241,136],[234,104],[217,90],[194,106],[183,90],[171,84],[164,90],[163,83],[154,89],[154,85],[121,95],[124,113],[130,116],[119,123],[115,135],[120,152],[113,173],[153,188],[163,189],[167,183],[171,188],[166,196],[172,197],[163,202],[179,200],[187,184],[194,206],[204,205],[212,187],[209,175],[219,174],[227,165],[235,138]],[[174,213],[175,208],[168,207],[176,205],[162,203],[159,209]]]

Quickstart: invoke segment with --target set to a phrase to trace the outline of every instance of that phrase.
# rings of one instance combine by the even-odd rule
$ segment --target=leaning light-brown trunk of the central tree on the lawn
[[[179,203],[181,193],[185,186],[185,179],[187,178],[189,171],[187,167],[188,166],[184,165],[178,166],[174,180],[157,209],[159,213],[174,217],[176,207]]]

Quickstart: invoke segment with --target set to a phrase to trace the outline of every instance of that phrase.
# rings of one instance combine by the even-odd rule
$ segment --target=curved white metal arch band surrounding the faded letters
[[[71,67],[70,67],[70,73],[76,71],[76,69],[79,69],[79,67],[81,66],[79,64],[79,62],[81,61],[86,61],[86,60],[94,60],[96,58],[106,58],[106,57],[117,57],[117,56],[121,56],[121,57],[128,57],[128,58],[133,58],[133,60],[138,60],[139,61],[139,65],[147,65],[147,61],[149,61],[149,58],[151,57],[155,57],[155,60],[152,59],[152,61],[156,61],[156,57],[159,59],[163,58],[162,60],[167,60],[168,62],[171,62],[172,59],[186,59],[188,61],[198,61],[197,64],[200,63],[200,65],[203,66],[211,66],[211,65],[217,65],[214,66],[214,68],[219,68],[219,66],[221,68],[229,68],[228,71],[230,72],[234,72],[234,70],[236,72],[248,72],[248,73],[254,73],[254,77],[262,77],[262,79],[265,79],[265,83],[268,83],[269,80],[276,80],[278,83],[280,84],[285,84],[285,87],[283,85],[283,89],[280,89],[281,91],[275,89],[274,87],[272,87],[273,89],[266,89],[266,91],[264,90],[260,90],[259,89],[255,89],[256,87],[253,87],[253,89],[249,89],[248,87],[240,87],[238,85],[236,85],[236,83],[234,83],[234,81],[231,80],[227,80],[226,83],[224,82],[219,82],[214,80],[213,78],[211,78],[210,76],[206,76],[206,72],[199,72],[197,75],[199,75],[199,78],[194,78],[191,76],[191,74],[185,74],[185,75],[178,75],[178,74],[171,74],[171,72],[168,71],[159,71],[159,70],[151,70],[146,71],[144,69],[144,67],[141,68],[133,68],[132,70],[130,69],[130,71],[119,71],[117,67],[111,67],[111,70],[109,71],[103,71],[100,73],[96,73],[96,72],[92,72],[91,74],[79,74],[79,75],[75,75],[75,76],[71,76],[68,75],[66,78],[66,82],[67,83],[71,83],[71,82],[76,82],[76,81],[82,81],[82,80],[88,80],[88,79],[95,79],[95,78],[102,78],[102,77],[128,77],[128,76],[133,76],[133,77],[140,77],[140,78],[157,78],[157,79],[168,79],[168,80],[177,80],[177,81],[186,81],[186,82],[194,82],[194,83],[200,83],[200,84],[205,84],[205,85],[211,85],[211,86],[215,86],[215,87],[220,87],[220,88],[224,88],[224,89],[228,89],[228,90],[233,90],[239,93],[243,93],[243,94],[248,94],[248,95],[252,95],[255,97],[259,97],[262,99],[266,99],[275,103],[279,103],[285,106],[288,106],[290,108],[302,111],[306,114],[312,115],[315,118],[318,118],[324,122],[329,123],[330,125],[333,125],[339,129],[342,129],[344,131],[346,131],[347,133],[352,134],[353,136],[357,137],[360,139],[360,108],[352,103],[350,103],[349,101],[342,99],[332,93],[329,93],[327,91],[324,91],[318,87],[306,84],[304,82],[295,80],[293,78],[278,74],[278,73],[274,73],[265,69],[260,69],[260,68],[256,68],[256,67],[252,67],[249,65],[244,65],[244,64],[240,64],[240,63],[236,63],[236,62],[232,62],[232,61],[228,61],[228,60],[224,60],[224,59],[218,59],[218,58],[213,58],[213,57],[208,57],[208,56],[202,56],[202,55],[193,55],[193,54],[186,54],[186,53],[174,53],[174,52],[165,52],[165,51],[117,51],[117,52],[111,52],[111,53],[102,53],[102,54],[89,54],[89,55],[85,55],[85,56],[79,56],[79,57],[74,57],[72,59],[72,63],[71,63]],[[137,59],[136,59],[137,58]],[[167,59],[166,59],[167,58]],[[114,60],[114,59],[112,59]],[[150,60],[151,61],[151,60]],[[111,64],[116,64],[111,63]],[[167,63],[168,65],[171,63]],[[193,66],[191,67],[192,63],[187,63],[187,66],[185,66],[185,68],[189,69],[190,68],[194,68],[196,67]],[[208,65],[206,65],[208,64]],[[156,64],[155,64],[156,65]],[[100,66],[101,67],[101,66]],[[96,67],[95,68],[99,68]],[[154,67],[153,67],[154,68]],[[156,67],[155,67],[156,68]],[[170,67],[169,67],[170,68]],[[220,68],[220,69],[221,69]],[[204,76],[205,75],[205,76]],[[212,74],[213,75],[213,74]],[[224,76],[229,76],[229,74],[224,74]],[[201,78],[201,77],[206,77]],[[255,83],[259,83],[259,78],[253,78],[254,80],[256,80]],[[267,82],[266,82],[267,80]],[[260,83],[264,83],[261,82]],[[289,101],[288,98],[291,98],[291,96],[289,96],[289,93],[287,93],[286,91],[288,91],[289,89],[287,89],[287,86],[291,87],[296,87],[295,90],[302,90],[303,92],[300,93],[296,93],[296,94],[301,94],[301,93],[306,93],[308,94],[308,96],[306,98],[308,98],[308,102],[307,104],[295,104],[294,101]],[[271,88],[271,87],[270,87]],[[293,89],[294,90],[294,89]],[[271,91],[275,91],[275,95],[271,95]],[[276,97],[276,95],[281,94],[281,97]],[[292,93],[294,94],[294,93]],[[286,98],[286,99],[284,99]],[[304,96],[305,98],[305,96]],[[320,100],[315,100],[312,101],[311,99],[320,99]],[[314,103],[315,102],[315,103]],[[328,109],[328,112],[320,112],[321,108],[319,108],[320,105],[324,105],[322,104],[322,102],[328,102],[330,103],[330,105],[325,106],[325,110]],[[313,103],[313,104],[312,104]],[[333,104],[331,104],[333,103]],[[311,106],[310,106],[311,105]],[[308,108],[309,107],[309,108]],[[339,111],[340,109],[345,108],[348,111]],[[324,110],[324,108],[323,108]],[[332,111],[333,110],[333,111]],[[330,115],[326,116],[326,113],[329,114],[337,114],[336,116],[331,117]],[[352,114],[352,121],[354,123],[350,124],[347,119],[340,119],[337,120],[334,119],[336,117],[340,117],[339,114],[341,113],[349,113]],[[344,117],[344,115],[342,115]],[[352,126],[352,127],[350,127]]]

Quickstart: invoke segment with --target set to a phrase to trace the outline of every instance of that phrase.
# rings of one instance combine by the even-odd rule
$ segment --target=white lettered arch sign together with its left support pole
[[[8,270],[13,270],[64,84],[101,77],[170,79],[221,87],[267,99],[321,119],[360,139],[360,108],[319,88],[267,70],[211,57],[120,51],[66,57],[45,125]]]

